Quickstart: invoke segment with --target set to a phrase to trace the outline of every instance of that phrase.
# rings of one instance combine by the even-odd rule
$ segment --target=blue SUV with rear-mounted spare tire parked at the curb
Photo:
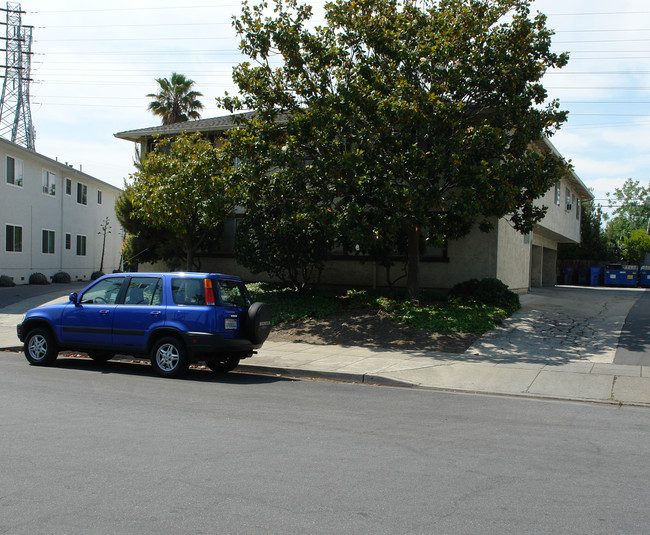
[[[271,311],[251,303],[239,277],[216,273],[117,273],[97,279],[68,303],[33,308],[17,326],[27,360],[52,364],[61,350],[104,362],[146,355],[164,377],[191,362],[233,370],[271,330]]]

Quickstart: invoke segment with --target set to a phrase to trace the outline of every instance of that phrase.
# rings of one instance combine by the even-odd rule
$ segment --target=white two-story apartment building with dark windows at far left
[[[27,284],[36,272],[89,280],[100,267],[119,269],[123,232],[115,201],[121,191],[0,138],[0,275]]]

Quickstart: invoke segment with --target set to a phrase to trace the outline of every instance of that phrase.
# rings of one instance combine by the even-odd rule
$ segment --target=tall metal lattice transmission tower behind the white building
[[[36,150],[29,108],[33,26],[23,26],[21,14],[24,11],[21,11],[20,4],[7,2],[7,9],[0,8],[0,11],[7,12],[5,75],[0,96],[0,136],[29,150]]]

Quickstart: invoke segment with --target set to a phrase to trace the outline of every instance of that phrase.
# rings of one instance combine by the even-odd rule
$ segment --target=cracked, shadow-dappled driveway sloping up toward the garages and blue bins
[[[521,310],[468,357],[494,362],[650,365],[650,294],[642,288],[555,286],[521,296]],[[624,356],[624,353],[634,356]],[[634,359],[634,362],[632,362]]]

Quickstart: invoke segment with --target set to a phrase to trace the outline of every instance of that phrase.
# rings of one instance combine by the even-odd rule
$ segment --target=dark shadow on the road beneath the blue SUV
[[[217,374],[204,368],[190,368],[187,373],[177,379],[159,377],[153,371],[151,365],[146,361],[135,360],[109,360],[108,362],[95,362],[90,358],[72,357],[60,355],[54,365],[57,368],[74,369],[80,371],[95,372],[101,374],[136,375],[142,377],[154,377],[165,381],[194,381],[201,383],[260,385],[277,382],[292,382],[296,379],[279,377],[276,375],[264,375],[232,371],[230,373]]]

